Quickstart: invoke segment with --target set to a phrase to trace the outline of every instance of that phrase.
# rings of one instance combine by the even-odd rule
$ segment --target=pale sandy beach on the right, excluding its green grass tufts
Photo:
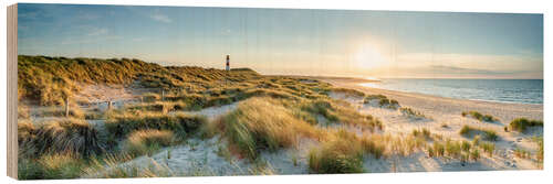
[[[431,132],[437,132],[444,137],[451,139],[466,140],[463,136],[460,136],[459,130],[463,126],[479,127],[482,129],[489,129],[498,132],[500,139],[495,141],[497,155],[489,158],[489,160],[480,161],[478,164],[469,164],[468,166],[451,166],[450,164],[436,164],[434,166],[425,165],[429,161],[428,158],[415,156],[411,159],[404,158],[400,162],[404,164],[419,165],[420,167],[407,167],[404,171],[465,171],[465,170],[525,170],[525,169],[538,169],[535,163],[529,162],[528,160],[522,160],[514,156],[514,150],[518,148],[523,148],[535,152],[538,147],[532,138],[543,136],[543,128],[533,128],[526,133],[519,132],[505,132],[503,128],[508,126],[511,120],[515,118],[530,118],[530,119],[543,119],[543,106],[542,105],[525,105],[525,104],[505,104],[505,102],[492,102],[492,101],[478,101],[478,100],[467,100],[467,99],[453,99],[437,97],[416,93],[404,93],[394,91],[365,87],[362,84],[366,82],[352,80],[347,78],[316,78],[326,83],[332,84],[335,87],[349,88],[363,91],[367,95],[385,95],[392,99],[399,101],[401,107],[409,107],[422,112],[425,116],[429,117],[427,120],[413,120],[404,118],[397,110],[389,110],[373,106],[367,106],[362,102],[361,98],[338,96],[338,98],[345,99],[352,104],[357,104],[358,109],[362,112],[373,115],[380,120],[383,120],[386,130],[385,133],[392,134],[408,134],[414,129],[426,128]],[[482,122],[469,117],[462,117],[462,111],[480,111],[483,113],[492,115],[497,117],[499,121],[495,122]],[[469,140],[469,139],[467,139]],[[426,161],[425,161],[426,160]],[[375,166],[374,164],[367,165],[373,171],[383,170],[382,166]]]

